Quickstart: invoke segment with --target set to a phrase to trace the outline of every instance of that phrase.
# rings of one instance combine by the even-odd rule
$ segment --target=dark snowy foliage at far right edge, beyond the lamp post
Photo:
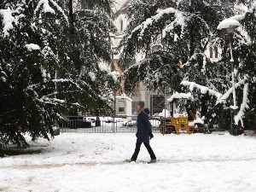
[[[245,112],[244,123],[249,128],[255,128],[256,125],[256,4],[255,1],[243,1],[247,5],[248,11],[244,13],[245,17],[241,20],[242,29],[247,32],[246,38],[240,39],[235,36],[236,40],[240,40],[235,46],[235,57],[238,59],[236,67],[238,69],[238,78],[247,77],[248,87],[248,105]],[[238,94],[241,94],[238,92]]]

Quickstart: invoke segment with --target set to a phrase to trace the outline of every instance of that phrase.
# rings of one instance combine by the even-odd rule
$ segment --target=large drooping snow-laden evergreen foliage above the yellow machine
[[[132,2],[128,9],[130,25],[119,46],[119,49],[122,49],[120,65],[127,68],[125,59],[133,58],[137,53],[145,55],[144,61],[140,63],[150,61],[150,64],[147,68],[142,67],[143,70],[136,71],[139,76],[137,78],[134,73],[137,64],[127,68],[125,84],[131,85],[125,85],[125,88],[131,90],[130,88],[138,81],[143,81],[150,90],[172,92],[180,89],[177,84],[180,83],[181,78],[177,79],[177,76],[203,85],[212,85],[214,79],[222,82],[219,76],[229,74],[228,70],[225,69],[224,73],[219,75],[212,73],[213,70],[224,66],[212,63],[205,55],[205,51],[209,44],[218,43],[216,42],[218,23],[228,15],[230,9],[212,6],[202,0]],[[160,57],[154,56],[152,53],[154,44],[161,45],[158,50],[160,56],[169,53],[171,60],[173,57],[181,56],[184,64],[183,73],[177,74],[170,70],[177,65],[177,60],[160,61]],[[155,64],[157,70],[151,63],[157,63]],[[217,85],[213,85],[213,88],[221,91]]]

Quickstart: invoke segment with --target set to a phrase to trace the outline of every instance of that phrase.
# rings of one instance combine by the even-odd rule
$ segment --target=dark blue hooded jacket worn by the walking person
[[[148,108],[143,108],[137,115],[137,142],[139,143],[149,143],[149,134],[152,133],[152,129],[148,114]]]

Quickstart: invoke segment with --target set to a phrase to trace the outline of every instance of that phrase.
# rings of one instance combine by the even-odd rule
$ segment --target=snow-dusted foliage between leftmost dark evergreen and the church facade
[[[119,89],[119,82],[107,70],[99,67],[99,61],[112,63],[112,49],[109,32],[115,30],[109,15],[95,10],[81,10],[74,13],[76,18],[73,31],[73,49],[70,57],[78,71],[77,79],[84,90],[90,88],[96,100],[79,96],[85,110],[99,108],[103,114],[112,113],[112,108],[106,105],[113,90]],[[85,83],[86,82],[86,83]],[[89,89],[89,90],[90,90]],[[91,96],[92,94],[87,94]],[[103,96],[104,99],[98,98]],[[104,101],[105,100],[105,101]]]

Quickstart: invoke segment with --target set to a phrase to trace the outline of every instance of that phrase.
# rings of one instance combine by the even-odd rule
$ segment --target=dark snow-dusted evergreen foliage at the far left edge
[[[5,139],[13,142],[19,128],[32,136],[52,132],[65,104],[55,100],[51,79],[56,70],[68,76],[67,68],[72,68],[65,55],[67,47],[59,47],[67,44],[62,36],[68,23],[58,6],[49,3],[55,11],[51,14],[36,1],[17,3],[19,6],[4,2],[2,10],[9,11],[16,22],[9,23],[12,28],[7,32],[2,28],[0,38],[0,127]],[[7,26],[3,25],[3,16],[1,26]]]

